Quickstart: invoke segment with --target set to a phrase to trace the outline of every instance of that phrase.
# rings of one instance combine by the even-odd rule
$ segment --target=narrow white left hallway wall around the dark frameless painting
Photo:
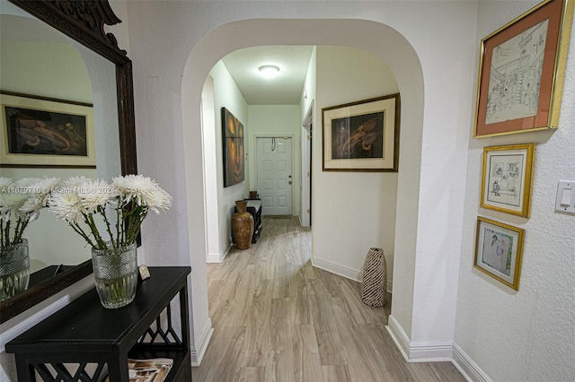
[[[234,186],[224,187],[224,153],[222,143],[222,108],[228,109],[243,125],[244,152],[249,149],[250,126],[248,124],[248,106],[243,100],[242,92],[237,88],[234,79],[223,62],[218,62],[210,72],[214,79],[214,111],[216,113],[216,159],[217,159],[217,216],[219,232],[219,253],[225,255],[232,244],[232,215],[234,202],[247,197],[246,183],[250,177],[247,166],[244,169],[244,181]],[[213,190],[212,190],[213,192]]]

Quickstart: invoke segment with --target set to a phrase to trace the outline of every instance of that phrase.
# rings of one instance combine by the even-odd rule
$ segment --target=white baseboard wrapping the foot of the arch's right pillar
[[[453,343],[411,342],[402,326],[393,316],[388,318],[387,326],[385,327],[400,352],[402,352],[403,358],[408,362],[442,362],[452,360]]]

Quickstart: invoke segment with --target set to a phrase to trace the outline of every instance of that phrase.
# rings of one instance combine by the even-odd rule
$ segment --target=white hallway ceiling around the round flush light
[[[266,46],[236,50],[222,58],[248,105],[299,105],[313,46]],[[264,78],[259,67],[279,73]]]

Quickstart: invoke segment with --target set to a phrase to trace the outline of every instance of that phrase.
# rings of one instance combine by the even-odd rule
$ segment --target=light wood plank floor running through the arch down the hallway
[[[310,252],[295,218],[264,218],[258,243],[208,264],[215,330],[194,382],[464,381],[449,362],[405,362],[389,300],[363,304],[360,283],[314,268]]]

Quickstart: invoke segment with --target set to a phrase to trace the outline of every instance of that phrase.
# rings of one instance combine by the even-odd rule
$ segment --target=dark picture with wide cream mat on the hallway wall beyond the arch
[[[323,171],[390,171],[399,164],[399,94],[322,109]]]

